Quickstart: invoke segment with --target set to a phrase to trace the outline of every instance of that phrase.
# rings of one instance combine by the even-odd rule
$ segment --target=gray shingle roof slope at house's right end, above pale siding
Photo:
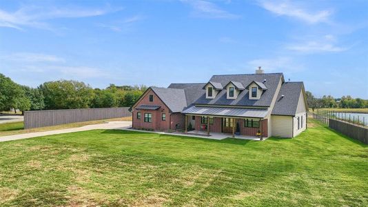
[[[303,82],[283,83],[280,92],[278,92],[272,115],[295,115],[302,88],[304,88]],[[284,95],[284,97],[282,97],[282,95]]]

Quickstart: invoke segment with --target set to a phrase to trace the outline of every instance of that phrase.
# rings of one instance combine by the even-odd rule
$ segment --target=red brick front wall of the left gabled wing
[[[150,102],[150,95],[154,96],[152,102]],[[135,108],[141,105],[154,105],[161,106],[158,110],[136,110]],[[137,112],[141,112],[141,119],[136,119]],[[145,112],[152,113],[152,122],[144,122]],[[156,94],[150,89],[133,107],[133,128],[150,128],[153,130],[167,131],[170,129],[170,112],[169,108],[165,106],[165,103],[156,96]],[[166,114],[166,121],[162,121],[162,114]]]

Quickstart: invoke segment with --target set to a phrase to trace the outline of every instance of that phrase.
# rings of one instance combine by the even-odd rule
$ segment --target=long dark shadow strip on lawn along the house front
[[[185,139],[185,140],[196,140],[196,141],[205,141],[209,143],[221,143],[221,144],[236,144],[236,145],[245,145],[248,144],[249,139],[234,139],[234,138],[225,138],[225,139],[209,139],[209,138],[201,138],[201,137],[186,137],[182,135],[170,135],[170,134],[159,134],[153,132],[141,132],[141,131],[131,131],[131,130],[104,130],[101,132],[102,134],[112,134],[112,135],[158,135],[162,138],[176,138],[176,139]]]

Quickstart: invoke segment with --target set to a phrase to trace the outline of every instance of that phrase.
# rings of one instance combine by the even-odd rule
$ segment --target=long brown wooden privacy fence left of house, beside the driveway
[[[128,107],[121,107],[25,111],[24,128],[37,128],[81,121],[130,117],[132,116],[132,112],[128,109]]]

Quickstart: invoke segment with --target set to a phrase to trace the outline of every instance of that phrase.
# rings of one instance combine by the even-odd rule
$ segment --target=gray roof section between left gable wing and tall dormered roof
[[[178,88],[185,91],[185,98],[187,99],[187,106],[190,106],[201,95],[205,94],[203,87],[207,83],[171,83],[168,88]]]

